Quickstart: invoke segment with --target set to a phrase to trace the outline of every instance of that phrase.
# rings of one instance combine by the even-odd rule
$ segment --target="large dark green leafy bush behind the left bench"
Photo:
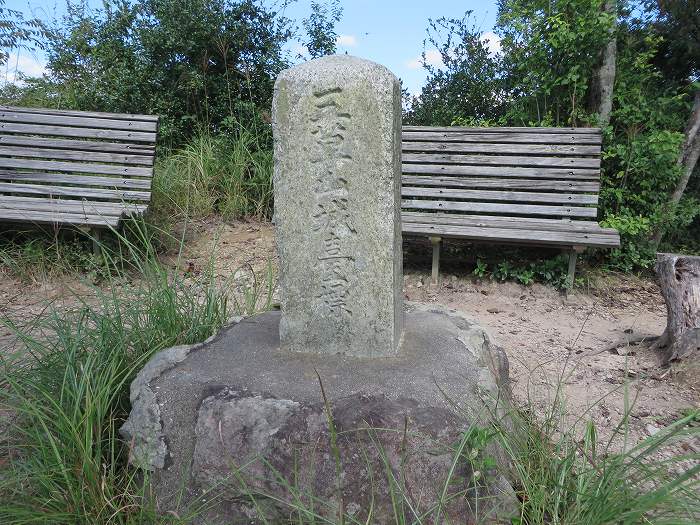
[[[106,0],[69,4],[47,28],[47,102],[150,113],[181,143],[200,124],[218,131],[246,101],[268,110],[287,66],[289,21],[258,0]]]

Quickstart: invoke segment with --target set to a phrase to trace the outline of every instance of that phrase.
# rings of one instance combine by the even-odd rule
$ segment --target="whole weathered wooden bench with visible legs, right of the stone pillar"
[[[402,223],[433,243],[437,282],[442,238],[514,245],[620,246],[596,222],[601,133],[597,128],[404,126]]]

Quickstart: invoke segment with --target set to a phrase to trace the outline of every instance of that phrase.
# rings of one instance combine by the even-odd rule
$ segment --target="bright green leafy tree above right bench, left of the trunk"
[[[596,0],[503,0],[496,30],[504,81],[515,95],[509,120],[553,126],[587,119],[586,96],[615,21]]]

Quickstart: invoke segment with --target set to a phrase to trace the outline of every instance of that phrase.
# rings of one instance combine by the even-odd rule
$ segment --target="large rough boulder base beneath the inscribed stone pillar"
[[[279,523],[303,504],[393,523],[399,501],[411,517],[509,522],[505,455],[470,438],[508,427],[505,354],[454,311],[408,310],[391,358],[282,351],[279,312],[154,356],[122,435],[151,471],[158,508],[198,509],[195,523]]]

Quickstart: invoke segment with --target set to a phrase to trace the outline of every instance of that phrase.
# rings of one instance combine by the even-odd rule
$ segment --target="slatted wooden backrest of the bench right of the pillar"
[[[402,208],[595,220],[598,128],[404,126]]]

